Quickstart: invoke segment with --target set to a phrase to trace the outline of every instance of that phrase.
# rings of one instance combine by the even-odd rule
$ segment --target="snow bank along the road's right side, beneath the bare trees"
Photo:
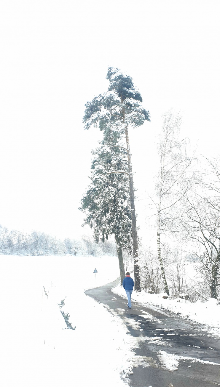
[[[113,288],[112,292],[123,298],[127,298],[124,288],[120,285]],[[205,303],[199,301],[190,303],[190,301],[182,300],[181,298],[176,300],[165,300],[160,294],[133,291],[131,302],[132,300],[143,304],[162,307],[186,319],[208,325],[208,327],[213,328],[220,334],[220,305],[217,305],[217,300],[213,298],[210,298]]]

